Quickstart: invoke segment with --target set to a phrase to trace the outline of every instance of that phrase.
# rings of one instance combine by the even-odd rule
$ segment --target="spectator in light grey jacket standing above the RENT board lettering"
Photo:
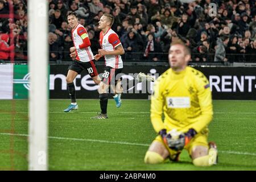
[[[218,38],[214,61],[218,61],[218,62],[228,61],[228,59],[226,58],[226,51],[225,51],[226,46],[228,46],[228,42],[229,42],[229,37],[226,35],[222,35],[221,38]]]

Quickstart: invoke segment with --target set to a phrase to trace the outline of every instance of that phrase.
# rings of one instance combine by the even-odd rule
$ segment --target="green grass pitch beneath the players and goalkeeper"
[[[28,109],[26,100],[1,100],[0,169],[27,170]],[[69,100],[49,101],[50,170],[256,170],[256,101],[213,102],[209,140],[217,143],[219,163],[195,167],[187,151],[180,162],[143,163],[156,137],[150,123],[150,101],[109,100],[106,120],[92,120],[98,100],[78,100],[79,110],[63,113]],[[15,135],[11,129],[14,129]]]

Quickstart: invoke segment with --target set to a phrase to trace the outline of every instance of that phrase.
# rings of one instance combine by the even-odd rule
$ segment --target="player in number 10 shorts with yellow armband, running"
[[[64,110],[64,112],[78,109],[76,103],[76,89],[75,84],[73,83],[73,80],[75,80],[78,74],[86,70],[95,84],[98,85],[101,81],[94,64],[94,56],[90,49],[90,40],[85,27],[79,24],[76,13],[69,13],[67,19],[69,25],[72,27],[72,40],[74,43],[74,46],[70,48],[70,56],[75,58],[75,60],[73,60],[72,64],[68,67],[66,80],[68,84],[68,92],[71,97],[71,104]]]

